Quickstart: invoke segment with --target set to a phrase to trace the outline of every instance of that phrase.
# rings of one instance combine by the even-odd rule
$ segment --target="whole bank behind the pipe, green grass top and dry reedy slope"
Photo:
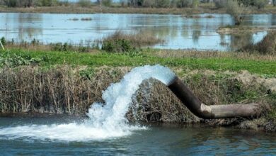
[[[253,121],[200,120],[163,84],[151,79],[154,86],[149,88],[144,82],[134,101],[140,106],[136,114],[139,121],[204,122],[276,130],[275,60],[275,55],[246,52],[145,49],[114,54],[101,50],[79,53],[10,49],[0,55],[0,111],[2,115],[29,112],[83,116],[93,102],[102,101],[101,91],[130,69],[160,64],[173,69],[207,105],[258,102],[269,111]],[[133,120],[132,111],[127,118]]]

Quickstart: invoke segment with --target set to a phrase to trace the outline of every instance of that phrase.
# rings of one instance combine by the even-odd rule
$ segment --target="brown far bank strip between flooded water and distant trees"
[[[140,13],[140,14],[198,14],[198,13],[226,13],[225,9],[214,7],[197,8],[134,8],[134,7],[80,7],[80,6],[41,6],[30,8],[8,8],[0,6],[2,13]],[[266,9],[254,9],[251,14],[276,13],[276,7]]]

